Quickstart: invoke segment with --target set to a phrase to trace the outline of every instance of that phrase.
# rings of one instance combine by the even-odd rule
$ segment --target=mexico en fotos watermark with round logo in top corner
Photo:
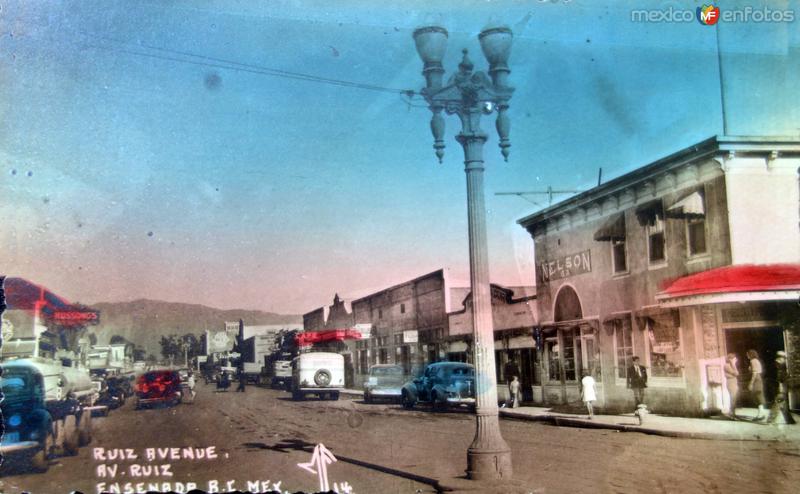
[[[699,22],[702,25],[712,26],[722,22],[794,22],[795,12],[791,9],[771,9],[763,7],[742,7],[725,9],[714,5],[703,5],[695,10],[676,9],[637,9],[631,10],[631,22]]]

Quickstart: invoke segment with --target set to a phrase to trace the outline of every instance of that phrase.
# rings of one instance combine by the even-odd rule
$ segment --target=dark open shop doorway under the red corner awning
[[[728,328],[725,330],[725,347],[728,353],[735,353],[739,359],[739,389],[741,404],[756,406],[757,403],[744,391],[750,382],[750,363],[746,353],[752,349],[758,353],[764,367],[764,394],[767,401],[775,396],[775,353],[784,350],[783,330],[779,327]]]

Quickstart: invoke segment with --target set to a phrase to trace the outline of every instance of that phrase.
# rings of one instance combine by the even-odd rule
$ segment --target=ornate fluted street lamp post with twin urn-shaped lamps
[[[422,95],[433,113],[433,147],[440,163],[445,147],[442,111],[448,115],[456,114],[461,119],[461,132],[456,140],[464,148],[464,171],[467,174],[473,356],[477,373],[477,423],[475,439],[467,450],[467,474],[473,480],[491,480],[511,478],[511,449],[500,435],[497,413],[486,207],[483,198],[483,144],[487,135],[481,130],[480,119],[481,115],[497,112],[500,151],[508,160],[511,143],[508,140],[510,123],[506,112],[508,100],[514,92],[507,84],[512,33],[507,27],[493,27],[484,29],[478,39],[489,62],[491,79],[483,72],[473,73],[473,65],[465,49],[458,72],[450,77],[446,85],[442,85],[442,58],[447,47],[447,30],[439,26],[427,26],[414,31],[417,52],[424,62],[422,74],[427,83]]]

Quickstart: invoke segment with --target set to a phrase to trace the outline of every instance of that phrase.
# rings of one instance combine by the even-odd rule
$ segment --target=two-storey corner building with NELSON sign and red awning
[[[711,138],[521,219],[537,266],[536,397],[579,400],[585,372],[600,406],[633,409],[638,356],[650,408],[701,414],[730,406],[727,353],[743,382],[749,349],[767,379],[779,350],[796,371],[799,166],[796,139]]]

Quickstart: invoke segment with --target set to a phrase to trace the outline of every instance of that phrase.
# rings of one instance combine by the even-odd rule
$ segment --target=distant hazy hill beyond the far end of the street
[[[226,321],[242,319],[247,326],[283,325],[302,326],[303,316],[275,314],[259,310],[222,310],[205,305],[163,302],[160,300],[134,300],[132,302],[100,302],[92,304],[100,311],[100,323],[89,331],[97,335],[97,343],[108,344],[114,335],[143,347],[148,353],[160,357],[161,336],[194,333],[198,337],[206,329],[223,329]]]

